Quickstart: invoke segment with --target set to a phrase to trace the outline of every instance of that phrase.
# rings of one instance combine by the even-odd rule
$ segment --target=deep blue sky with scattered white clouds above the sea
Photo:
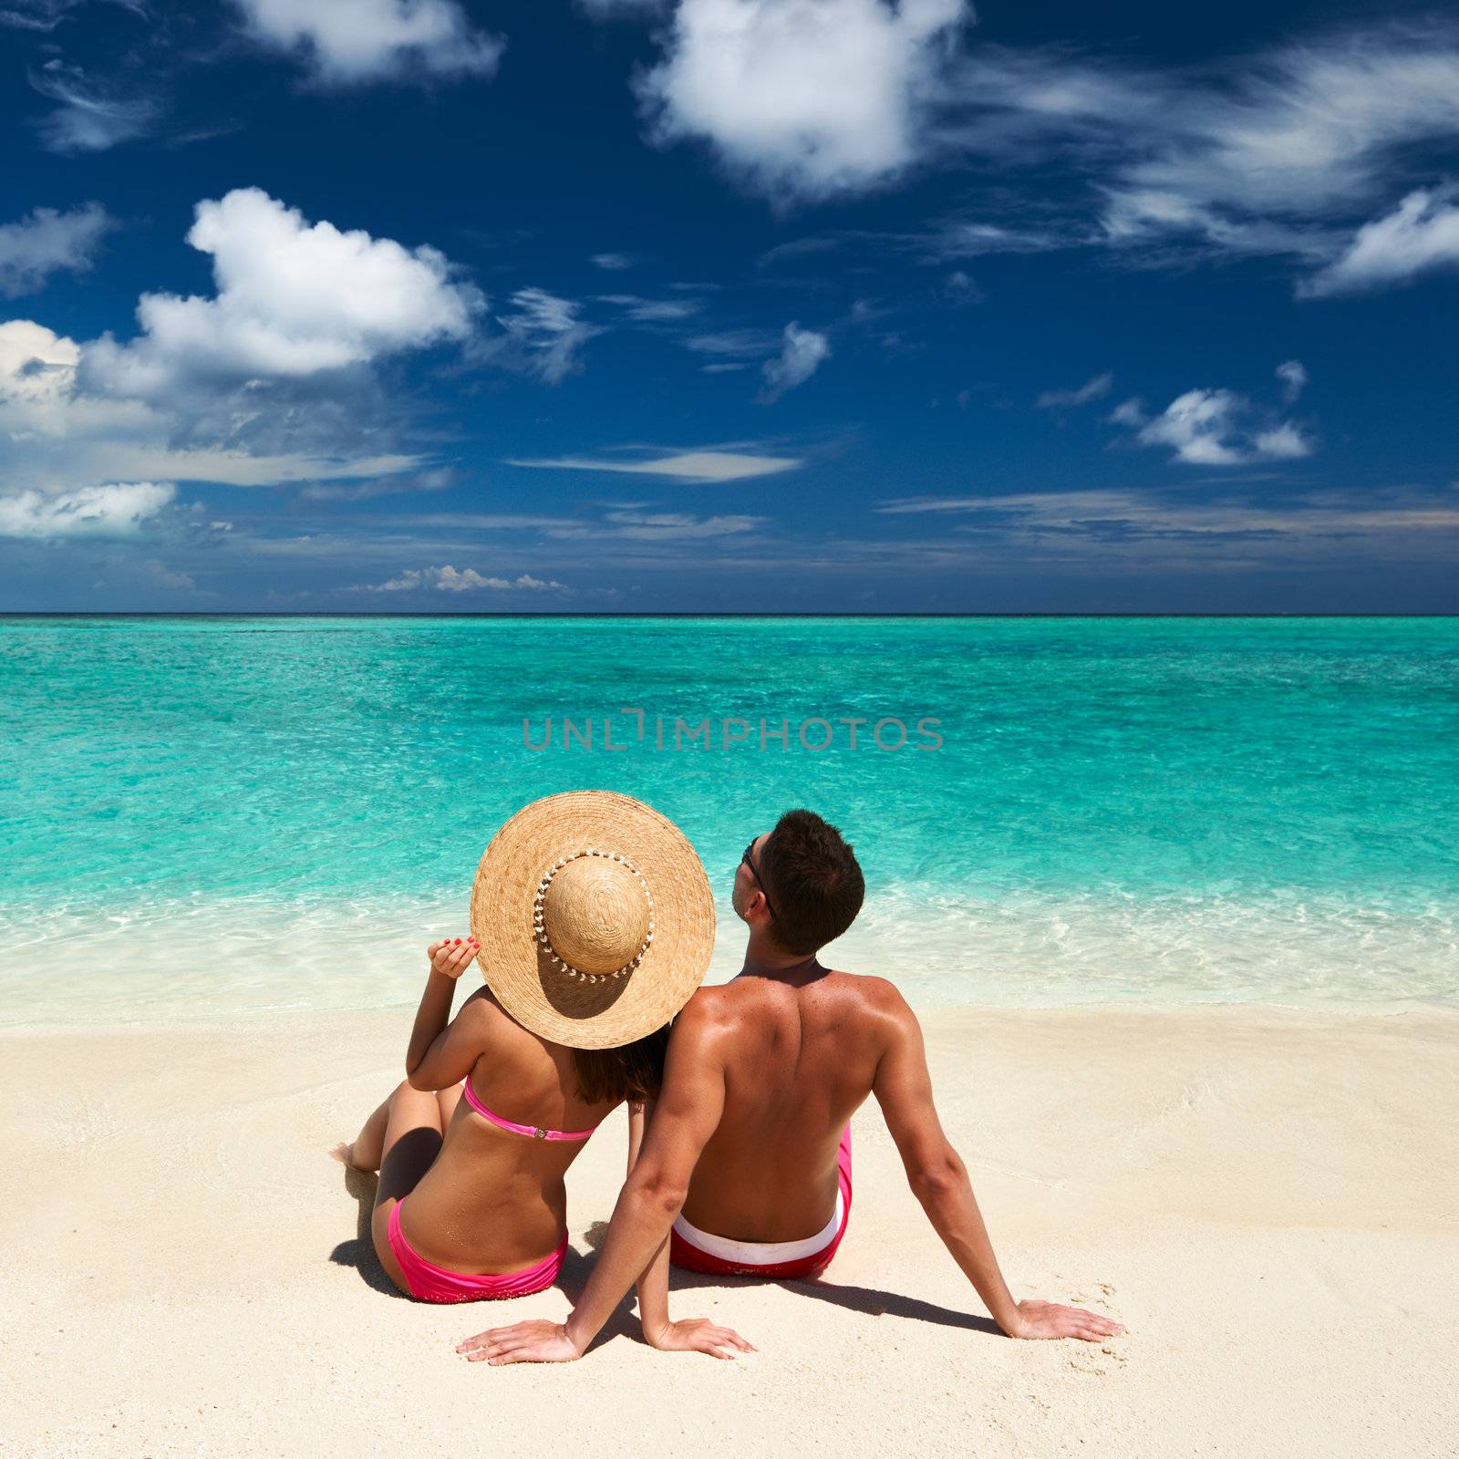
[[[1459,610],[1443,10],[0,0],[0,610]]]

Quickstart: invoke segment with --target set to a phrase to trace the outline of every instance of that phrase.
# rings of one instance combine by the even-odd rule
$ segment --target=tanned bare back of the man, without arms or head
[[[694,994],[674,1036],[715,1045],[725,1093],[686,1221],[738,1242],[798,1240],[826,1226],[836,1147],[871,1093],[894,1001],[880,978],[820,966],[804,980],[741,973]]]

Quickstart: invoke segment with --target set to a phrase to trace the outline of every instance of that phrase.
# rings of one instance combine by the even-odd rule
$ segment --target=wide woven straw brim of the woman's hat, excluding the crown
[[[560,858],[597,848],[626,856],[654,899],[654,943],[623,978],[575,979],[533,931],[537,884]],[[703,982],[715,902],[689,837],[613,791],[568,791],[522,807],[492,837],[471,887],[471,935],[487,988],[525,1029],[572,1049],[611,1049],[668,1023]]]

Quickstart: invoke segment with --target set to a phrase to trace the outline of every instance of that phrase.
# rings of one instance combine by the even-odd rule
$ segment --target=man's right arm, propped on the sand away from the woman
[[[973,1198],[967,1169],[943,1134],[932,1104],[932,1077],[916,1015],[893,991],[890,1037],[872,1093],[896,1141],[912,1193],[983,1306],[1011,1338],[1085,1338],[1099,1342],[1123,1332],[1118,1322],[1048,1301],[1014,1301],[998,1269],[988,1228]]]

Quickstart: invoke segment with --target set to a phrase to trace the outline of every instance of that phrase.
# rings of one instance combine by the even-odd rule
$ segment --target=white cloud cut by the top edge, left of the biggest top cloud
[[[302,53],[322,82],[489,76],[503,42],[457,0],[236,0],[249,32]]]

